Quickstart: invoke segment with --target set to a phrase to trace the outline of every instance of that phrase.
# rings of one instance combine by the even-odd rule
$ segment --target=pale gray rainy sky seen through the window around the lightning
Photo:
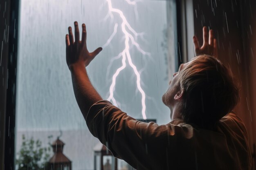
[[[112,6],[124,12],[127,21],[144,39],[137,42],[151,55],[141,55],[131,46],[132,61],[141,72],[141,84],[146,97],[148,119],[157,123],[170,121],[170,111],[162,104],[168,88],[167,65],[161,43],[166,28],[166,1],[145,0],[135,6],[125,0],[112,0]],[[67,27],[78,21],[86,24],[89,51],[103,46],[114,31],[117,34],[109,46],[88,66],[88,74],[97,91],[107,99],[112,75],[121,66],[121,58],[109,69],[110,60],[124,49],[121,18],[107,18],[106,0],[21,0],[18,50],[17,130],[20,129],[87,129],[76,103],[70,71],[65,61]],[[128,62],[126,62],[128,64]],[[115,99],[120,108],[134,118],[142,118],[141,94],[136,77],[127,66],[117,77]]]

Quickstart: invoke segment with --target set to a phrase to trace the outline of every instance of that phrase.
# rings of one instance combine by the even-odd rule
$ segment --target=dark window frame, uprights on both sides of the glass
[[[166,0],[169,1],[169,0]],[[182,17],[185,15],[185,10],[182,8],[182,1],[170,0],[176,4],[176,26],[174,28],[175,45],[179,46],[180,50],[175,53],[175,70],[177,70],[186,61],[184,59],[184,31],[182,31]],[[4,18],[0,22],[4,23],[0,26],[0,40],[4,42],[5,31],[4,26],[8,25],[7,42],[2,50],[2,63],[0,66],[3,87],[0,89],[0,169],[15,169],[15,123],[16,123],[16,70],[17,70],[17,54],[18,54],[18,25],[19,25],[19,9],[20,0],[5,1],[5,4],[0,4],[5,7]],[[1,41],[0,41],[1,42]],[[182,60],[180,61],[180,57]],[[4,82],[5,80],[5,82]],[[3,114],[1,114],[3,113]],[[12,159],[10,159],[12,158]]]

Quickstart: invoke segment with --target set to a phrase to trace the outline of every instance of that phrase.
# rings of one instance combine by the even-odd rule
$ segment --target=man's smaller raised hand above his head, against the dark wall
[[[217,48],[217,40],[213,36],[213,30],[211,29],[207,31],[207,27],[203,27],[203,45],[200,47],[198,38],[196,36],[193,37],[193,42],[195,46],[195,55],[200,54],[208,54],[215,57],[218,57],[218,48]]]

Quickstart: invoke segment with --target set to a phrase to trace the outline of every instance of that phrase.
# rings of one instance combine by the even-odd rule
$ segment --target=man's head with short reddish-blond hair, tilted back
[[[211,128],[238,103],[238,87],[228,69],[215,57],[199,55],[182,64],[163,96],[186,123]]]

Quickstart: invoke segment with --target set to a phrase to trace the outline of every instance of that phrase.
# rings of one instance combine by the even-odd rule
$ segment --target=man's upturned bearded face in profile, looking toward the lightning
[[[176,104],[177,100],[174,99],[175,95],[180,91],[180,87],[176,85],[177,79],[179,78],[179,73],[189,65],[191,62],[187,62],[180,65],[179,71],[173,74],[173,79],[169,82],[169,87],[166,93],[164,93],[162,97],[162,101],[166,106],[168,106],[171,110],[173,106]]]

